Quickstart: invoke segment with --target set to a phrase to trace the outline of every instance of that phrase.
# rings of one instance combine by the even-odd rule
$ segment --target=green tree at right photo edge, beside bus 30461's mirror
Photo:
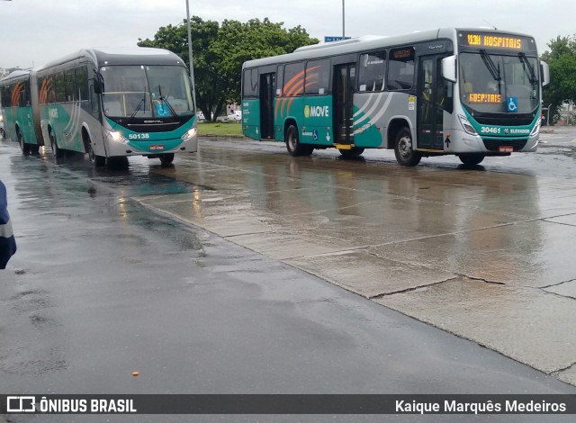
[[[564,102],[576,102],[576,37],[557,37],[548,43],[542,59],[550,66],[550,85],[545,87],[544,103],[553,104],[549,111],[557,117]],[[552,120],[551,120],[552,121]]]

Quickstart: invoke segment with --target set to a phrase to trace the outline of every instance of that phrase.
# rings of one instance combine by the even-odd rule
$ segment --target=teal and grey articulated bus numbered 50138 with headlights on
[[[198,149],[186,67],[165,49],[83,49],[0,81],[6,137],[23,153],[50,146],[107,158],[142,155],[172,163]]]

